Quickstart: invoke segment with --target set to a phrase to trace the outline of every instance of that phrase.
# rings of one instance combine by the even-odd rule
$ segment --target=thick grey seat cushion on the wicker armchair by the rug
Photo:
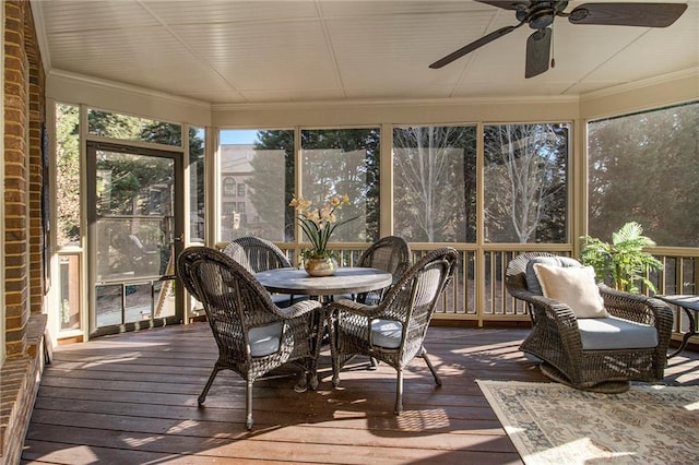
[[[657,346],[655,326],[616,317],[578,319],[583,350],[651,348]]]

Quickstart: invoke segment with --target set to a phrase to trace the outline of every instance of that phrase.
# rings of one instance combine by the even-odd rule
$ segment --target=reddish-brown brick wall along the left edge
[[[28,1],[4,8],[4,311],[0,457],[19,463],[42,371],[46,326],[42,222],[45,73]]]

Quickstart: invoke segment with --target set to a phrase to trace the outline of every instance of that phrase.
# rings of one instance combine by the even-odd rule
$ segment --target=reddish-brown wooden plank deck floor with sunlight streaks
[[[216,358],[206,323],[62,346],[47,367],[22,463],[51,464],[517,464],[511,441],[475,380],[546,381],[518,350],[528,330],[433,327],[405,375],[405,412],[393,415],[395,372],[381,365],[296,393],[289,373],[254,385],[245,428],[245,384],[221,373],[197,406]],[[671,360],[666,383],[699,383],[699,355]]]

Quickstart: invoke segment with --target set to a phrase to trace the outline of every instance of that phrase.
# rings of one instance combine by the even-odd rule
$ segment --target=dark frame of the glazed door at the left
[[[129,145],[126,143],[114,142],[96,142],[86,141],[86,172],[87,172],[87,314],[88,314],[88,332],[90,337],[104,336],[107,334],[125,333],[130,331],[143,330],[145,327],[157,327],[170,324],[181,324],[185,319],[185,295],[182,286],[176,285],[177,273],[171,275],[161,276],[162,282],[171,279],[175,284],[175,314],[171,317],[154,318],[151,314],[150,320],[134,321],[129,323],[121,323],[118,325],[97,327],[96,319],[96,260],[97,260],[97,245],[96,245],[96,152],[109,151],[116,153],[125,153],[132,155],[144,155],[159,158],[168,158],[174,162],[175,165],[175,195],[174,195],[174,218],[173,218],[173,259],[177,260],[180,252],[183,249],[185,237],[185,168],[183,157],[185,153],[181,148],[177,151],[166,151],[157,148],[146,148],[142,146]],[[135,282],[143,283],[144,281]],[[146,326],[144,327],[144,324]]]

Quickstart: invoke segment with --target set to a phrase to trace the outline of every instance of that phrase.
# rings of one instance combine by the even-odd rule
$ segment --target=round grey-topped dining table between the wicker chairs
[[[332,301],[333,296],[357,295],[389,287],[393,275],[378,269],[340,266],[331,276],[310,276],[305,270],[286,267],[273,269],[254,274],[254,277],[270,293],[317,297],[321,302]],[[318,388],[318,359],[325,332],[328,315],[325,306],[313,318],[313,356],[310,372],[310,388]]]

